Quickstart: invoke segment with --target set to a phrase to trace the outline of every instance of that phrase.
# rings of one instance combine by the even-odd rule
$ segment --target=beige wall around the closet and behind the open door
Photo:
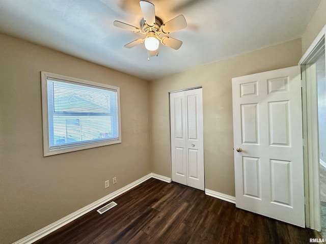
[[[231,79],[295,66],[301,51],[297,39],[152,81],[152,172],[171,177],[169,92],[203,86],[205,188],[234,196]]]

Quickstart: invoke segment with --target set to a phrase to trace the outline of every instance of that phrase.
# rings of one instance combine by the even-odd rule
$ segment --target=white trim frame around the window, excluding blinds
[[[118,100],[118,125],[119,125],[119,136],[118,139],[102,142],[94,142],[91,144],[74,145],[56,149],[50,149],[49,146],[49,120],[48,120],[48,97],[47,97],[47,80],[48,79],[60,79],[63,81],[80,83],[85,85],[97,86],[97,88],[108,88],[117,91]],[[88,80],[73,78],[64,75],[53,74],[49,72],[41,72],[41,89],[42,89],[42,121],[43,121],[43,156],[51,156],[57,154],[69,153],[70,151],[84,150],[88,148],[94,148],[99,146],[106,146],[121,143],[121,112],[120,112],[120,88],[117,86],[92,82]]]

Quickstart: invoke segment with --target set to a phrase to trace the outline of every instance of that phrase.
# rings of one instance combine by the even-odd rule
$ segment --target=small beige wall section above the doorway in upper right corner
[[[302,54],[304,54],[311,43],[315,40],[322,27],[326,24],[326,0],[321,0],[316,12],[307,25],[302,36]]]

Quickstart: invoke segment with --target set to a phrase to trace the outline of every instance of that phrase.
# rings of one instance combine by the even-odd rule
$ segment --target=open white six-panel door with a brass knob
[[[300,66],[233,78],[232,97],[236,207],[305,227]]]

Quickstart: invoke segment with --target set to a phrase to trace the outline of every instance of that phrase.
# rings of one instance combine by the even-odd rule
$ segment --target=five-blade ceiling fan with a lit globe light
[[[184,16],[179,15],[166,23],[162,23],[162,21],[157,16],[155,16],[155,6],[152,3],[147,1],[140,1],[139,4],[144,17],[141,20],[141,28],[123,23],[118,20],[115,20],[113,22],[114,26],[127,29],[134,33],[140,33],[145,35],[144,38],[134,40],[124,45],[124,47],[132,48],[141,43],[145,43],[145,48],[148,50],[148,53],[151,56],[158,55],[159,42],[162,45],[166,45],[175,50],[178,50],[182,45],[182,41],[174,39],[172,37],[168,37],[166,35],[169,35],[173,32],[179,31],[180,29],[187,27],[187,22]],[[161,35],[163,36],[161,37]]]

